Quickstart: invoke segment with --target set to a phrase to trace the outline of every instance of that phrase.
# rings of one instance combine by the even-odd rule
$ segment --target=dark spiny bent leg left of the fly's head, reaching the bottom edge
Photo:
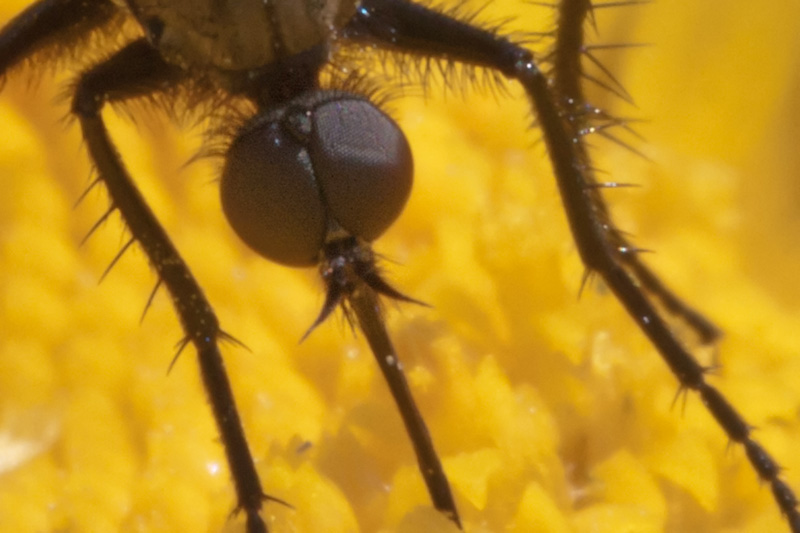
[[[183,71],[164,62],[145,40],[138,40],[81,76],[72,111],[113,206],[172,296],[186,334],[181,348],[192,343],[197,349],[203,384],[236,486],[237,510],[247,515],[248,532],[265,532],[259,511],[262,500],[269,497],[261,489],[220,354],[219,342],[226,335],[189,267],[125,170],[100,116],[105,102],[152,95],[174,87],[183,77]]]

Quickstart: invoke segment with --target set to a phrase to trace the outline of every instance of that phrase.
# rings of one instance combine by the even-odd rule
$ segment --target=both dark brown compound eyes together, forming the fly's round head
[[[245,125],[226,157],[222,207],[259,254],[313,266],[336,225],[366,241],[386,231],[412,176],[408,141],[391,118],[362,97],[320,92]]]

